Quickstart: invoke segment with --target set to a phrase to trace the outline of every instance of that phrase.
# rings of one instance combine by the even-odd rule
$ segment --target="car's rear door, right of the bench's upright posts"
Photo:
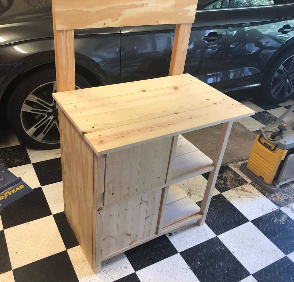
[[[291,2],[294,3],[293,0],[230,0],[218,89],[232,91],[260,85],[269,60],[294,36]]]

